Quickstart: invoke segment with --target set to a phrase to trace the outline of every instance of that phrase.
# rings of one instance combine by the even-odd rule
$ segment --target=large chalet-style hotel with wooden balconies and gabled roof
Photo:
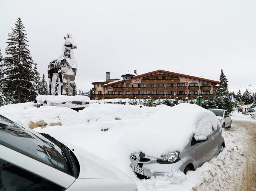
[[[181,73],[157,70],[137,75],[125,73],[120,79],[110,79],[110,72],[106,72],[106,81],[93,82],[94,98],[196,98],[209,97],[217,90],[219,81],[205,79]]]

